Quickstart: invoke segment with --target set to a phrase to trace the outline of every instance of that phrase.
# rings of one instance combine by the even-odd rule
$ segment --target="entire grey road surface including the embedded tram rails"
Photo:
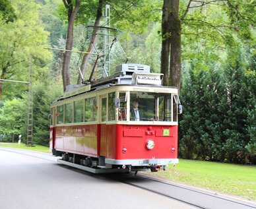
[[[0,147],[0,209],[256,209],[256,203],[144,175],[93,174],[50,154]]]

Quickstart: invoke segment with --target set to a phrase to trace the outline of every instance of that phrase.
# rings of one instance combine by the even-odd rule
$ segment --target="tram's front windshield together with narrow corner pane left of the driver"
[[[119,121],[177,121],[177,94],[130,92],[127,101],[127,93],[119,92]]]

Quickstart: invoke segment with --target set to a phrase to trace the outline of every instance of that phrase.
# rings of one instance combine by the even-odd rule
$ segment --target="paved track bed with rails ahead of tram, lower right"
[[[185,185],[179,185],[170,181],[164,181],[148,177],[148,175],[139,174],[136,176],[129,175],[119,181],[150,191],[152,193],[172,198],[179,202],[183,202],[194,208],[205,209],[253,209],[256,208],[255,202],[241,200],[231,196],[224,196],[222,194],[205,191],[203,189],[196,189]]]

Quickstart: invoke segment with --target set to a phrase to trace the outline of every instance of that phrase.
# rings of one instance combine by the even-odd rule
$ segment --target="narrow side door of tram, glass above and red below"
[[[106,156],[107,142],[107,96],[100,97],[100,156]]]

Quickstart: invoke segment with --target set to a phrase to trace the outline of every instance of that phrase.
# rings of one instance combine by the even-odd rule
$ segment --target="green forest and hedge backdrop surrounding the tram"
[[[46,146],[49,105],[65,88],[65,53],[46,49],[65,49],[68,9],[63,2],[69,1],[0,0],[1,79],[28,81],[32,69],[33,140]],[[178,21],[168,28],[163,14],[172,12],[170,2],[179,3]],[[111,27],[122,30],[119,41],[129,63],[150,65],[152,72],[165,74],[167,84],[180,85],[179,158],[255,164],[255,1],[81,0],[73,28],[73,50],[88,48],[86,25],[95,24],[101,3],[103,11],[106,3],[110,4]],[[173,17],[168,20],[176,22]],[[105,23],[103,15],[100,26]],[[175,32],[180,43],[173,40],[179,38]],[[100,38],[98,42],[102,44]],[[170,50],[170,45],[179,49],[176,44],[181,46],[180,57],[164,51]],[[112,73],[125,62],[119,50],[113,47]],[[93,60],[89,59],[88,69]],[[78,81],[81,61],[79,53],[71,54],[71,84]],[[172,69],[179,69],[179,63],[180,83],[172,80],[176,73]],[[96,75],[100,73],[98,67]],[[84,76],[89,75],[88,70]],[[11,135],[17,140],[15,134],[22,134],[25,141],[28,86],[0,81],[0,89],[0,140]]]

